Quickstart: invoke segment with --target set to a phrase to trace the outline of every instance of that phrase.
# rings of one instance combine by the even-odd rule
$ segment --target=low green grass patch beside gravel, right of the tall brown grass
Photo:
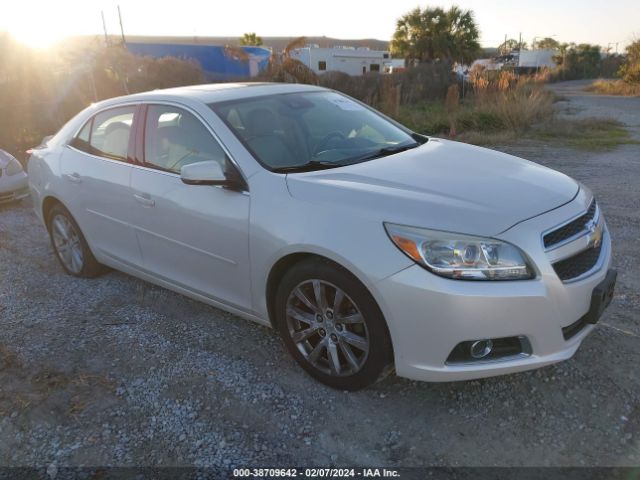
[[[617,120],[610,118],[554,119],[531,131],[532,138],[558,142],[579,150],[606,151],[640,143]]]

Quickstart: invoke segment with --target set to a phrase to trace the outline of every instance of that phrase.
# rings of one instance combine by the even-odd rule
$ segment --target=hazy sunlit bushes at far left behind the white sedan
[[[199,64],[83,39],[40,52],[0,33],[0,145],[18,158],[92,102],[202,83]]]

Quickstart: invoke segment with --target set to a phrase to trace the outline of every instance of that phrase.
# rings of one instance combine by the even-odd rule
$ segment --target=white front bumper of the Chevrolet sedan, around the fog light
[[[376,284],[388,320],[399,376],[423,381],[469,380],[542,367],[574,355],[593,330],[586,324],[565,340],[563,327],[590,308],[591,294],[611,264],[611,239],[605,229],[598,268],[586,278],[563,283],[540,245],[539,233],[571,208],[533,219],[499,238],[521,246],[538,268],[533,280],[474,282],[442,278],[418,265]],[[568,218],[571,215],[566,215]],[[549,218],[551,217],[551,218]],[[553,223],[552,223],[553,224]],[[447,363],[460,342],[525,337],[530,352],[491,361]]]

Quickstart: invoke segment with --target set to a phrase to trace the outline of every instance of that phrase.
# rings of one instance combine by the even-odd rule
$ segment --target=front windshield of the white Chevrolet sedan
[[[211,104],[266,168],[331,168],[413,146],[406,131],[336,92],[269,95]]]

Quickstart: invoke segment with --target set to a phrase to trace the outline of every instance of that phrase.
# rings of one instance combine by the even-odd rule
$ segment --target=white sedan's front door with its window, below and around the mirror
[[[215,160],[227,172],[236,167],[195,112],[169,104],[145,110],[142,166],[131,175],[145,270],[249,310],[248,192],[180,179],[190,163]]]

